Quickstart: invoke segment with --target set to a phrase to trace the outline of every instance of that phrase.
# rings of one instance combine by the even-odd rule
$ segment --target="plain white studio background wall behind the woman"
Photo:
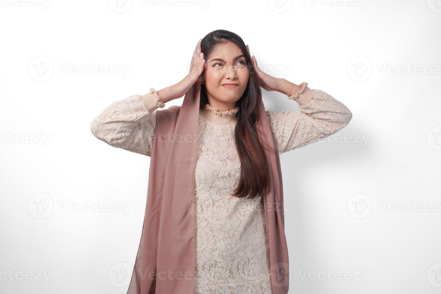
[[[217,29],[353,113],[281,156],[290,293],[441,292],[439,0],[0,4],[0,293],[126,293],[149,157],[97,140],[90,122],[179,82]]]

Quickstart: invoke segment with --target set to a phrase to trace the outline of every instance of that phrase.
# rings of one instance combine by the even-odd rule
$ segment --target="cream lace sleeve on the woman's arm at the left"
[[[132,95],[106,107],[90,123],[92,134],[113,147],[151,156],[157,108],[163,108],[156,90]]]

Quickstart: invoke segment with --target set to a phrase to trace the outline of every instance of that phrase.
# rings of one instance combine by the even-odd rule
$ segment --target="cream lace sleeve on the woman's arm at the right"
[[[302,89],[288,98],[299,102],[296,112],[266,111],[277,139],[279,153],[326,138],[348,125],[352,112],[339,100],[322,90]]]

